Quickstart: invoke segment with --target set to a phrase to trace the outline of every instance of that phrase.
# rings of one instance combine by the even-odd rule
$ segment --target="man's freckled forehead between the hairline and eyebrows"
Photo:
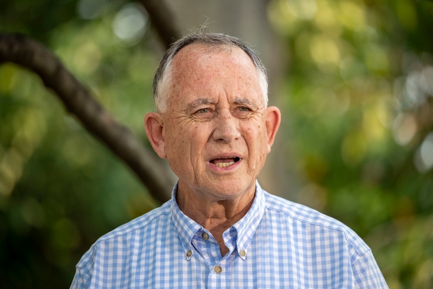
[[[255,103],[263,99],[258,71],[237,46],[190,44],[173,58],[172,77],[175,102],[217,97],[222,91],[228,97],[252,98]]]

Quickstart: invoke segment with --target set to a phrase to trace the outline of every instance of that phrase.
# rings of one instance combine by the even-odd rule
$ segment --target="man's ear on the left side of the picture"
[[[164,122],[158,113],[147,113],[144,116],[144,129],[155,152],[161,158],[167,158],[165,154],[165,140],[163,135]]]

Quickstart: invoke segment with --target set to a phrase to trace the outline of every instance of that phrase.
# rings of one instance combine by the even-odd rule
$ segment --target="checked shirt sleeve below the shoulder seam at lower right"
[[[356,288],[388,289],[385,278],[373,257],[371,250],[359,256],[352,264]]]

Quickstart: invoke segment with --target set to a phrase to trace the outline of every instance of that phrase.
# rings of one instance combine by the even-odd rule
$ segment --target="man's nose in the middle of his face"
[[[241,136],[238,127],[239,120],[232,115],[230,110],[219,110],[214,121],[215,128],[212,134],[214,141],[224,141],[230,143]]]

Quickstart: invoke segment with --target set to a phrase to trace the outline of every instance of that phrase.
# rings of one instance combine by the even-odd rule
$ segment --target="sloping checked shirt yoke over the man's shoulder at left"
[[[167,225],[167,218],[170,218],[170,201],[164,203],[161,207],[153,209],[152,211],[117,227],[113,231],[100,237],[96,242],[103,242],[124,235],[134,234],[137,231],[152,230],[152,228],[159,226],[158,223],[160,222]]]

